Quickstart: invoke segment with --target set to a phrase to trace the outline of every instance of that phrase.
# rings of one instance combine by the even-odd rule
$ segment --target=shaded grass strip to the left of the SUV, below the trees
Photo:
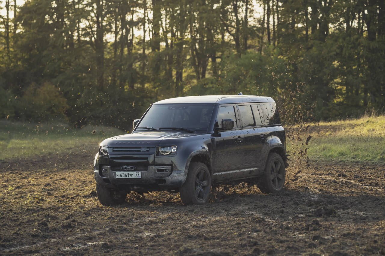
[[[70,128],[66,124],[33,124],[0,121],[0,160],[68,153],[95,147],[114,135],[125,133],[117,128],[86,126]]]

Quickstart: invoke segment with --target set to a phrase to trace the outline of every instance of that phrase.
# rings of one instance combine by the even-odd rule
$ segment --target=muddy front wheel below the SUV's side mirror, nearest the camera
[[[192,162],[184,184],[179,188],[182,202],[188,204],[204,204],[211,193],[211,175],[203,163]]]

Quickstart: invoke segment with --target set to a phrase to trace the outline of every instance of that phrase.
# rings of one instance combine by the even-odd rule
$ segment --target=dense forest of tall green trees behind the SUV
[[[132,127],[190,95],[273,97],[285,123],[385,106],[383,0],[0,0],[0,118]]]

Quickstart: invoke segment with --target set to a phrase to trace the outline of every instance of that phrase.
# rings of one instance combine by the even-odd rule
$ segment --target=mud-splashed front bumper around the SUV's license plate
[[[159,172],[164,166],[148,166],[147,171],[141,171],[141,178],[115,178],[116,171],[121,170],[112,170],[114,168],[108,165],[101,168],[105,171],[94,169],[97,183],[111,188],[124,187],[131,191],[175,190],[183,185],[187,177],[187,170],[172,170],[171,174]]]

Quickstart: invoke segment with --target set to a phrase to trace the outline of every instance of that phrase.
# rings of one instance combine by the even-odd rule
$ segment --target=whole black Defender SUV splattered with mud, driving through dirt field
[[[263,193],[285,184],[286,136],[275,102],[246,95],[190,96],[152,104],[131,134],[108,138],[95,156],[104,205],[136,191],[179,192],[208,201],[212,184],[255,182]]]

